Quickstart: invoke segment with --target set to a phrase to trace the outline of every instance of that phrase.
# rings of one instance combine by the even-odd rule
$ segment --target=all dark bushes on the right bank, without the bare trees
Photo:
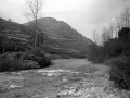
[[[109,64],[112,66],[109,79],[114,81],[119,88],[130,90],[130,39],[120,37],[109,39],[103,46],[92,45],[88,59],[96,63]]]

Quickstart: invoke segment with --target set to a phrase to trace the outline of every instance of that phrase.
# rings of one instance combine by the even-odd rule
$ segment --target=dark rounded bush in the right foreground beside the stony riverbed
[[[113,61],[109,79],[114,81],[118,88],[130,90],[130,58],[123,57]]]

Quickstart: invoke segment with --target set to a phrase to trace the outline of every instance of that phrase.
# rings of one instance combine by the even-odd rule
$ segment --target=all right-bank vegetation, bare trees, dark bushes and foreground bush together
[[[115,86],[130,90],[130,8],[126,8],[114,25],[104,27],[101,36],[94,30],[93,40],[88,59],[109,64],[109,79]]]

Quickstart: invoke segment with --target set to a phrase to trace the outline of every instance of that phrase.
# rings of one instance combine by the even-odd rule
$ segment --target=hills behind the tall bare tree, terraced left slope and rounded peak
[[[38,20],[38,25],[40,32],[38,45],[54,57],[84,58],[89,45],[92,44],[90,39],[83,37],[63,21],[44,17]],[[0,40],[0,42],[6,47],[6,51],[26,50],[34,46],[35,32],[30,23],[18,24],[0,17],[1,36],[5,37],[5,41]]]

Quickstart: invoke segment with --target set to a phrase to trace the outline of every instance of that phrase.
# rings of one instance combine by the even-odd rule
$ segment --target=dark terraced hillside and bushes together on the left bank
[[[0,19],[0,72],[39,69],[51,61],[42,52],[42,36],[34,48],[34,30],[21,24]]]

